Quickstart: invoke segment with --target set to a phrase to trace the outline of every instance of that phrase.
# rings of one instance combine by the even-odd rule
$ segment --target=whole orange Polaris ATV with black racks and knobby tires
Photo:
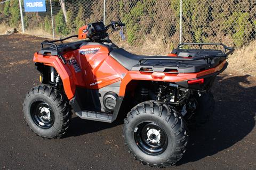
[[[168,56],[135,55],[108,38],[109,28],[124,25],[91,23],[76,36],[41,44],[34,62],[42,84],[26,95],[27,124],[52,139],[66,133],[72,110],[86,120],[108,123],[127,114],[129,152],[143,164],[173,165],[186,151],[188,127],[205,123],[213,113],[210,89],[234,48],[182,43]],[[82,40],[63,43],[72,37]],[[200,48],[182,48],[191,45]],[[223,50],[202,49],[204,45]]]

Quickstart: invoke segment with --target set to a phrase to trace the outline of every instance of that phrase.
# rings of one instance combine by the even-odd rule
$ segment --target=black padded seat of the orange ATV
[[[109,55],[118,63],[123,65],[127,70],[131,70],[134,65],[139,64],[139,60],[148,57],[129,53],[123,48],[114,49],[109,53]]]

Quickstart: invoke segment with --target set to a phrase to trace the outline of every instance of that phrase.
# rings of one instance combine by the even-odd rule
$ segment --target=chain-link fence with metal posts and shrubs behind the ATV
[[[26,32],[59,38],[86,23],[122,21],[125,41],[118,31],[110,38],[130,46],[170,49],[185,41],[241,47],[256,39],[256,0],[46,0],[46,9],[22,12]],[[2,25],[21,28],[20,19],[19,0],[0,4]]]

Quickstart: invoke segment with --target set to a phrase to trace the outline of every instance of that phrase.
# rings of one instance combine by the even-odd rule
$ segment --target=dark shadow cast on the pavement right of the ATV
[[[203,128],[190,132],[190,145],[178,165],[217,154],[252,131],[255,126],[256,87],[250,84],[248,77],[250,75],[217,77],[212,89],[216,102],[214,115]]]

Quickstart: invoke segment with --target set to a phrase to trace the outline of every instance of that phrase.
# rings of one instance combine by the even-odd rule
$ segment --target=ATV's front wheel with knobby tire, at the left
[[[23,103],[24,118],[29,128],[43,138],[60,138],[71,121],[70,107],[57,89],[48,85],[32,88]]]

